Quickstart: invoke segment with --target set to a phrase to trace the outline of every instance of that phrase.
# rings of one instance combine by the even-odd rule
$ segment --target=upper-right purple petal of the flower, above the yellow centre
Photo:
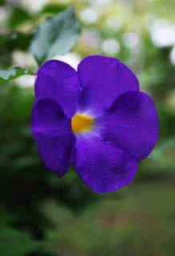
[[[139,90],[136,76],[116,58],[86,57],[78,65],[82,86],[82,112],[100,115],[109,110],[114,100],[127,90]]]

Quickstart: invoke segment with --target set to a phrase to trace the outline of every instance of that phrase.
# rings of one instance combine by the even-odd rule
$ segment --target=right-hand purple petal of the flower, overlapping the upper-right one
[[[97,122],[105,141],[116,142],[138,161],[146,158],[157,142],[157,110],[153,100],[140,91],[121,94]]]

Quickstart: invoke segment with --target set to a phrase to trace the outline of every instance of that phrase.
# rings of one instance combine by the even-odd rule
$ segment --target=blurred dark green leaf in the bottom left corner
[[[23,256],[38,250],[39,243],[28,234],[9,226],[0,228],[0,252],[3,256]]]

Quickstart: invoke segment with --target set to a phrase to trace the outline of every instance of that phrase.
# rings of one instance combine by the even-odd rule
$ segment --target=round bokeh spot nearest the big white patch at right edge
[[[122,35],[122,42],[129,49],[134,49],[139,44],[139,37],[136,33],[125,33]]]

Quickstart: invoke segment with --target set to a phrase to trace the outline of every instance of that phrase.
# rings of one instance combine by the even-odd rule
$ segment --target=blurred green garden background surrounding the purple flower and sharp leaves
[[[137,177],[114,194],[93,194],[71,169],[46,170],[30,133],[34,76],[0,83],[0,255],[175,255],[174,0],[0,1],[0,69],[38,69],[31,31],[74,6],[82,26],[71,53],[120,58],[152,95],[160,138]],[[24,34],[25,33],[25,34]]]

